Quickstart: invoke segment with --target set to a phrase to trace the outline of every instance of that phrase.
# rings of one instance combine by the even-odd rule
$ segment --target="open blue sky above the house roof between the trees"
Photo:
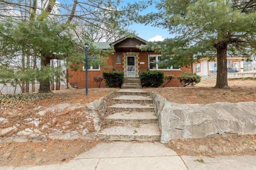
[[[126,4],[127,2],[133,3],[135,1],[138,0],[123,0],[124,4]],[[157,12],[157,10],[154,8],[154,4],[148,7],[142,13],[147,14],[150,12]],[[167,29],[152,27],[150,25],[134,23],[130,26],[130,29],[135,30],[136,33],[138,33],[138,37],[145,39],[146,41],[162,41],[163,39],[173,37],[169,34]]]

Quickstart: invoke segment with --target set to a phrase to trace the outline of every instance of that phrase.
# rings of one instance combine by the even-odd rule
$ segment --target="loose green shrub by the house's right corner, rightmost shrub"
[[[182,86],[188,86],[189,84],[196,84],[201,81],[201,77],[196,75],[196,73],[190,73],[190,72],[182,72],[180,76],[177,77],[180,80],[180,84]]]

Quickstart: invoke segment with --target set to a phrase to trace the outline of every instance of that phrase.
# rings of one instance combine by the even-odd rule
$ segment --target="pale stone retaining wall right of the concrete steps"
[[[175,104],[150,93],[162,132],[171,139],[256,134],[256,102]]]

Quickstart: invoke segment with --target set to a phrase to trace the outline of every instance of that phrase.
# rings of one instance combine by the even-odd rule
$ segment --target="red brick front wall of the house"
[[[159,53],[150,53],[150,55],[153,54],[159,54]],[[121,64],[116,64],[116,55],[121,55]],[[139,54],[139,62],[144,62],[144,64],[140,64],[138,63],[138,65],[140,66],[140,71],[146,71],[148,69],[148,55],[149,53],[146,52],[140,52]],[[94,82],[93,77],[94,76],[102,76],[103,72],[108,72],[108,71],[112,71],[112,65],[114,65],[114,69],[116,71],[123,71],[123,65],[125,65],[126,63],[123,63],[123,57],[126,57],[123,55],[123,53],[115,53],[114,54],[114,64],[112,62],[112,55],[109,55],[108,59],[107,59],[107,65],[108,65],[108,69],[106,69],[104,67],[100,67],[100,70],[88,70],[88,88],[97,88],[97,84],[96,82]],[[190,72],[191,69],[190,68],[186,68],[186,67],[182,67],[181,70],[170,70],[170,71],[163,71],[164,74],[172,74],[175,76],[175,78],[169,83],[166,84],[165,87],[180,87],[180,81],[177,79],[177,76],[179,76],[182,71],[184,72]],[[72,71],[72,70],[67,70],[68,74],[71,75],[72,77],[68,78],[68,83],[76,81],[79,83],[78,88],[85,88],[86,84],[85,84],[85,70],[82,70],[82,64],[80,66],[80,69],[78,69],[77,71]],[[106,87],[106,84],[104,82],[104,80],[101,82],[100,87]]]

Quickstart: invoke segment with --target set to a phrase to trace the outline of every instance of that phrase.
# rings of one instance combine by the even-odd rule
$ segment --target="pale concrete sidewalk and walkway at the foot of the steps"
[[[196,160],[204,160],[200,163]],[[100,143],[68,163],[0,170],[254,170],[256,156],[178,156],[158,142]]]

